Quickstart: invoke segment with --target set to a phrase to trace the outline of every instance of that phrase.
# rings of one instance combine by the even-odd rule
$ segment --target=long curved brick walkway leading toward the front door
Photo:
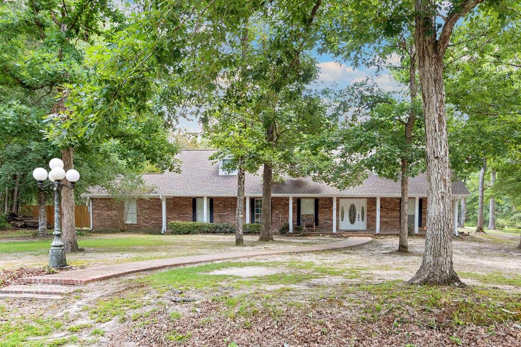
[[[76,284],[79,286],[84,286],[90,282],[102,281],[105,279],[128,275],[139,271],[150,271],[167,267],[221,261],[232,258],[252,257],[257,255],[337,250],[361,245],[369,241],[371,241],[370,237],[350,237],[349,239],[343,241],[320,243],[310,246],[282,247],[280,249],[274,250],[212,253],[177,258],[154,259],[150,261],[91,267],[82,270],[63,271],[59,274],[26,277],[24,280],[27,283]]]

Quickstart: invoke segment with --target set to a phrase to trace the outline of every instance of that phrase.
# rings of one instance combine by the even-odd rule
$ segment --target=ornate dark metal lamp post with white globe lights
[[[37,167],[33,171],[33,177],[38,181],[40,189],[44,187],[53,187],[54,190],[54,240],[51,243],[49,250],[49,267],[61,268],[67,266],[67,259],[65,258],[65,244],[61,240],[61,223],[60,223],[60,191],[62,188],[74,189],[74,184],[80,179],[80,173],[75,169],[70,169],[65,172],[64,162],[61,159],[53,158],[49,162],[51,171],[47,173],[42,167]],[[44,183],[45,179],[49,178],[49,183]],[[61,183],[61,180],[67,178],[70,185]]]

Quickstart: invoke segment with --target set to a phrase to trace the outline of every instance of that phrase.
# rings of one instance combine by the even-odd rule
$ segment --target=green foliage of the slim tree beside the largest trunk
[[[335,97],[332,116],[339,122],[315,140],[320,155],[310,161],[315,177],[340,189],[361,184],[370,175],[398,179],[401,159],[409,176],[425,169],[425,135],[419,98],[413,104],[370,81],[354,83]],[[416,116],[411,140],[404,122],[411,109]],[[349,116],[346,114],[350,113]]]

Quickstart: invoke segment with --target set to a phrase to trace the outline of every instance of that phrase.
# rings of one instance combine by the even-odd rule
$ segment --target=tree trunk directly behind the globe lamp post
[[[65,148],[61,151],[61,160],[64,162],[64,170],[74,168],[72,147]],[[67,179],[61,181],[63,184],[69,184]],[[76,221],[74,216],[74,191],[72,189],[63,188],[61,190],[61,233],[65,243],[65,252],[78,252],[78,239],[76,238]]]

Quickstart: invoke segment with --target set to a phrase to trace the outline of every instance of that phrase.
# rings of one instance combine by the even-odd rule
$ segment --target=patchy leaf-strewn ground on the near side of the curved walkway
[[[179,242],[223,242],[199,237]],[[126,276],[90,284],[63,302],[0,302],[0,345],[517,346],[518,238],[454,240],[464,289],[405,286],[425,239],[410,239],[412,253],[399,255],[398,238],[382,237],[355,249]]]

